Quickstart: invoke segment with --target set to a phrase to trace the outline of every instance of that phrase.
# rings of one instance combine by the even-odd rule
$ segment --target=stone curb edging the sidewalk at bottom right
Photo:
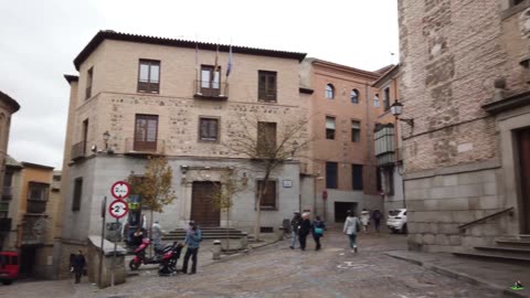
[[[394,255],[391,252],[384,253],[384,254],[390,256],[390,257],[396,258],[396,259],[405,260],[405,262],[412,263],[414,265],[425,267],[425,268],[427,268],[430,270],[433,270],[437,274],[441,274],[441,275],[444,275],[444,276],[447,276],[447,277],[451,277],[451,278],[454,278],[454,279],[459,279],[459,280],[466,281],[468,284],[475,285],[475,286],[481,286],[481,287],[490,288],[492,290],[497,290],[499,292],[502,292],[504,297],[517,297],[517,298],[519,298],[519,297],[520,298],[528,298],[529,297],[527,295],[506,289],[501,286],[492,285],[492,284],[490,284],[490,283],[488,283],[484,279],[473,277],[473,276],[469,276],[467,274],[455,272],[455,270],[452,270],[452,269],[448,269],[448,268],[444,268],[444,267],[438,266],[438,265],[434,265],[434,264],[426,263],[426,262],[421,262],[421,260],[414,259],[412,257]]]

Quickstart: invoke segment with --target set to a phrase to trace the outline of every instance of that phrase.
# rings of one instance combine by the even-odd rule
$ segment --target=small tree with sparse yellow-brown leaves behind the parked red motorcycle
[[[177,195],[171,185],[173,172],[165,157],[149,157],[144,175],[130,172],[127,182],[131,192],[141,198],[141,206],[150,211],[149,236],[152,234],[152,213],[163,212],[163,206],[170,204]]]

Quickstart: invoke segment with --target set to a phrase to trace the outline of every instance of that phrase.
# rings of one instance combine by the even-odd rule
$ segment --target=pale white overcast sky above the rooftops
[[[61,169],[74,57],[98,30],[308,53],[374,71],[398,61],[396,0],[0,0],[0,91],[21,109],[8,152]]]

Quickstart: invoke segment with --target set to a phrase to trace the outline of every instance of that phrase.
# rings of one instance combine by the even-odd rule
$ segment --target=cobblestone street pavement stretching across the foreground
[[[197,275],[156,276],[141,270],[127,284],[97,289],[71,280],[19,283],[0,287],[0,297],[502,297],[500,292],[452,279],[383,255],[405,249],[403,235],[361,235],[358,254],[346,235],[330,232],[324,249],[292,251],[287,241],[225,262],[201,267]]]

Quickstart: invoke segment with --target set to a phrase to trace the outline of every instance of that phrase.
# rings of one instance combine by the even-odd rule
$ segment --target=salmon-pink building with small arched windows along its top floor
[[[328,223],[343,223],[348,210],[382,210],[373,129],[384,106],[371,86],[380,76],[318,58],[301,63],[300,97],[309,103],[314,138],[310,158],[301,163],[308,174],[303,207]]]

